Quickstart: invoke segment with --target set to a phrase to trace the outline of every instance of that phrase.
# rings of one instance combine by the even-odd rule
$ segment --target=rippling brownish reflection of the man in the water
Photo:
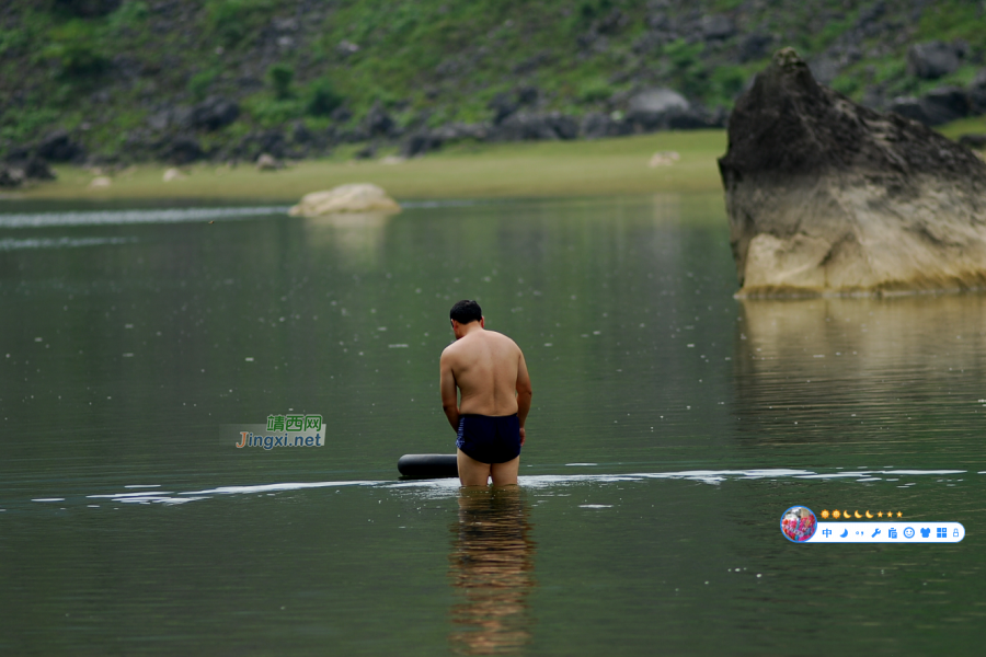
[[[454,650],[516,653],[530,641],[527,596],[535,542],[519,486],[461,488],[449,576],[463,600],[452,606]]]

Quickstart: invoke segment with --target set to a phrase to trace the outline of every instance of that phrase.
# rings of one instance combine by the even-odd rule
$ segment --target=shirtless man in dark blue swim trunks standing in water
[[[439,362],[442,407],[457,435],[459,481],[516,484],[531,396],[524,354],[506,335],[486,331],[475,301],[457,302],[448,315],[456,342]]]

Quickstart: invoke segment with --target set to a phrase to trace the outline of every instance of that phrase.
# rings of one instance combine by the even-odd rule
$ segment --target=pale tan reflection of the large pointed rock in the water
[[[953,391],[986,383],[986,295],[747,299],[734,344],[741,433],[769,442],[787,426],[787,440],[799,423],[799,440],[849,439],[851,427],[899,436],[912,419],[953,415]],[[936,430],[941,440],[947,426]]]

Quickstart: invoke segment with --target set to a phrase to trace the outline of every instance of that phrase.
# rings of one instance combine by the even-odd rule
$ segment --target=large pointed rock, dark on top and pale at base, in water
[[[790,48],[719,160],[741,296],[986,287],[986,164],[821,87]]]

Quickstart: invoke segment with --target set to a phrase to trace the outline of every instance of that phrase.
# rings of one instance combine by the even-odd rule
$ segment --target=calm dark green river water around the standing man
[[[986,297],[740,301],[713,196],[0,206],[0,654],[973,654]],[[448,309],[535,389],[454,451]],[[323,447],[237,448],[268,415]],[[784,509],[961,543],[793,544]]]

